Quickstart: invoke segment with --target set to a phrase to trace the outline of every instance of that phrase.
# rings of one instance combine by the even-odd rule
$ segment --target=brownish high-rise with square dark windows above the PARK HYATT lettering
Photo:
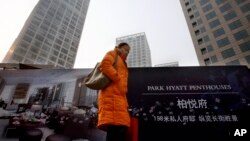
[[[180,0],[200,65],[250,67],[249,0]]]

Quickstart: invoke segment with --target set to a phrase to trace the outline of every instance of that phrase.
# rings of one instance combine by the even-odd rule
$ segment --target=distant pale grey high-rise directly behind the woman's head
[[[116,38],[116,44],[121,42],[131,47],[127,58],[128,67],[152,67],[150,48],[144,32]]]

